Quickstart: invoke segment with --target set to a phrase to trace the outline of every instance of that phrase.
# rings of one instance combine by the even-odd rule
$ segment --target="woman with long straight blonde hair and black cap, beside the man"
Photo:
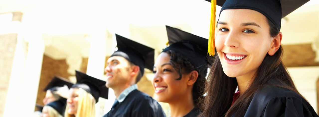
[[[94,117],[99,97],[108,99],[106,82],[79,71],[76,71],[76,77],[77,84],[70,88],[64,116]]]

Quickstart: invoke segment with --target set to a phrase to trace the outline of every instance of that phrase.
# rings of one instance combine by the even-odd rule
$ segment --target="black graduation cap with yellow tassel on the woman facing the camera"
[[[286,17],[309,0],[206,0],[211,2],[211,24],[208,52],[214,55],[216,5],[226,9],[250,9],[262,13],[280,30],[281,18]],[[220,13],[219,13],[220,14]]]

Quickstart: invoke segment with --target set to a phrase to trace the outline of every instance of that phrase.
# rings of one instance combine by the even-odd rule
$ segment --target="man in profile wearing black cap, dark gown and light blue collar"
[[[118,50],[107,61],[106,86],[115,102],[104,117],[165,117],[162,107],[149,95],[137,90],[144,68],[152,69],[154,49],[115,34]]]

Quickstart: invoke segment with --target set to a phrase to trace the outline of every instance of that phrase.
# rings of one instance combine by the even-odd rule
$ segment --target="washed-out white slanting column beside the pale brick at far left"
[[[28,40],[27,53],[23,49],[23,39],[20,39],[13,60],[4,117],[32,116],[34,112],[45,46],[41,33],[30,32],[23,37]]]

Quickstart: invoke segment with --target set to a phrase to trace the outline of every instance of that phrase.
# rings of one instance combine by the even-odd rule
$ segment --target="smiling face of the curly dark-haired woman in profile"
[[[153,72],[155,76],[152,80],[155,89],[155,99],[160,102],[178,101],[183,98],[187,92],[187,78],[189,75],[183,74],[181,80],[178,72],[173,68],[169,62],[170,55],[162,52],[157,57]]]

